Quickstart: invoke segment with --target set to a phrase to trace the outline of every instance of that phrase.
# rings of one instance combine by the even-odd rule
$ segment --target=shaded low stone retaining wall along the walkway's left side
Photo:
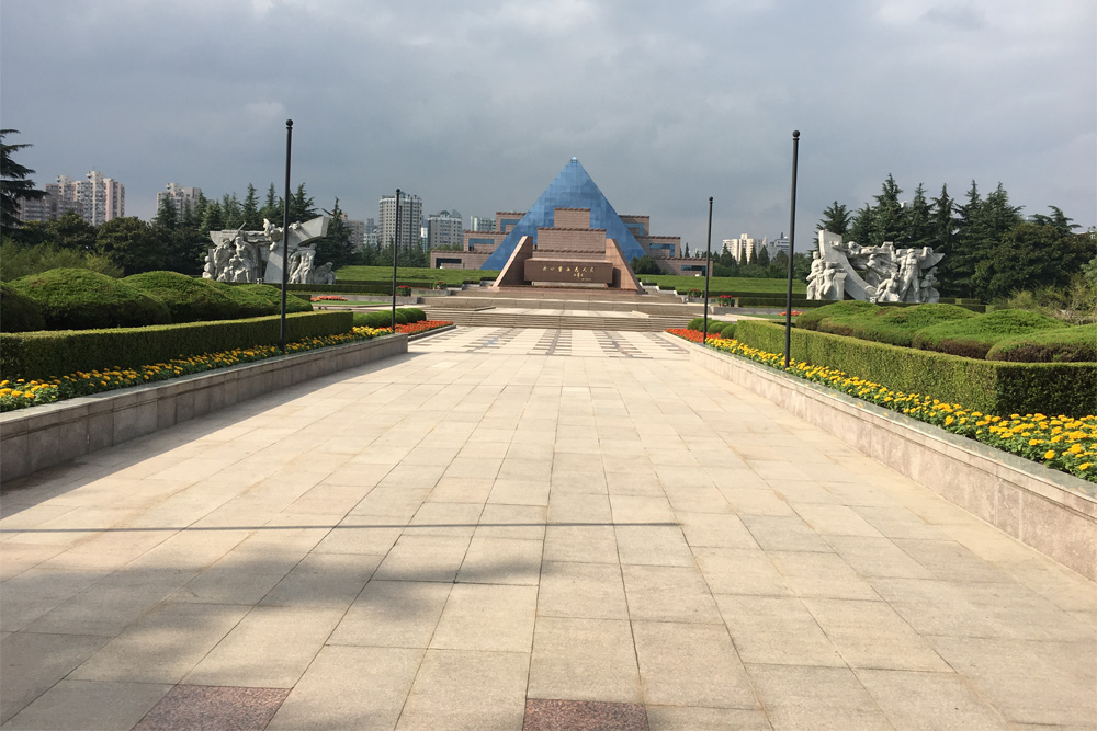
[[[0,414],[3,482],[286,386],[408,351],[391,335]],[[2,488],[0,488],[2,489]]]

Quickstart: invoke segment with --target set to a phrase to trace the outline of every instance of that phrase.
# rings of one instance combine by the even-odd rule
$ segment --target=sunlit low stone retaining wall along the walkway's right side
[[[665,335],[674,338],[674,335]],[[972,515],[1097,580],[1097,486],[709,347],[690,361],[788,409]]]

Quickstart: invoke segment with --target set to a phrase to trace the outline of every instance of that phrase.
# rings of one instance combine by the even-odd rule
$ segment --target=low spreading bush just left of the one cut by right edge
[[[984,358],[1002,340],[1029,335],[1041,330],[1066,328],[1045,315],[1026,310],[994,310],[980,317],[924,328],[914,335],[914,347]]]

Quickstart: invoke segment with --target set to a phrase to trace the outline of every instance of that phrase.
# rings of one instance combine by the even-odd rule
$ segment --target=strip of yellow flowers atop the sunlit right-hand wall
[[[717,351],[783,369],[783,355],[759,351],[737,340],[710,336],[705,344]],[[787,373],[940,426],[947,432],[1097,482],[1097,416],[1075,419],[1041,413],[984,414],[959,403],[942,403],[919,393],[893,391],[841,370],[795,359],[790,359]]]

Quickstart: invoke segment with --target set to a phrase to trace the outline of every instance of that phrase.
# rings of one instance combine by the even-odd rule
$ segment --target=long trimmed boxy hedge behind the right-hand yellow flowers
[[[735,338],[770,353],[784,352],[784,327],[778,323],[739,321]],[[799,328],[792,330],[790,347],[798,361],[988,414],[1097,413],[1094,363],[976,361]]]

